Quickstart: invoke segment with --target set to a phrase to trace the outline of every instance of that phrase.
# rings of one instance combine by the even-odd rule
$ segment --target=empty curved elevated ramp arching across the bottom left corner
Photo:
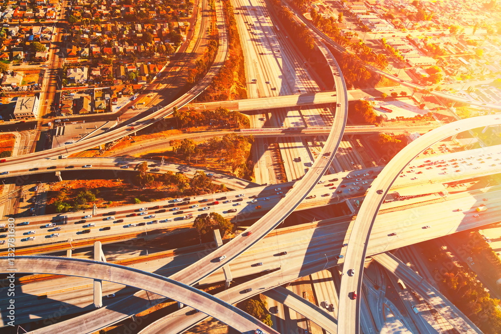
[[[279,334],[255,317],[211,294],[147,271],[106,262],[62,257],[18,256],[13,259],[5,256],[1,257],[0,260],[2,262],[0,272],[2,273],[10,273],[12,271],[9,269],[15,268],[16,273],[61,274],[135,286],[194,306],[242,333],[259,328],[266,333]],[[9,266],[8,260],[14,261],[14,267]]]

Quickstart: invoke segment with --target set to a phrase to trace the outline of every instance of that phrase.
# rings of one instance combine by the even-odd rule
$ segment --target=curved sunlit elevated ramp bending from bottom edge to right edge
[[[446,124],[411,142],[383,168],[372,183],[353,222],[339,292],[339,333],[359,332],[360,298],[353,299],[352,293],[362,289],[364,260],[371,230],[385,195],[398,175],[414,158],[434,143],[463,131],[497,124],[501,124],[498,115],[473,117]]]

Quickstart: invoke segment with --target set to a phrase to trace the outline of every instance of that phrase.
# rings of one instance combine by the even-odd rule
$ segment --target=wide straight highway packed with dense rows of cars
[[[435,186],[438,185],[497,174],[499,173],[499,166],[501,166],[501,162],[498,162],[498,160],[501,159],[501,156],[497,158],[498,155],[496,154],[500,151],[499,147],[501,146],[490,146],[470,151],[449,153],[446,155],[430,157],[428,160],[426,160],[426,158],[417,159],[414,161],[414,163],[423,167],[413,166],[413,168],[416,168],[414,172],[410,172],[409,168],[408,171],[410,173],[402,174],[402,176],[408,176],[399,177],[395,185],[392,186],[392,190],[394,192],[398,192],[401,196],[436,193],[438,192],[438,190],[433,189],[435,189]],[[489,161],[489,163],[480,163],[476,159],[469,159],[472,156],[480,156],[482,154],[486,157],[493,158],[484,160]],[[73,163],[72,161],[78,161],[80,159],[68,160],[69,162]],[[114,158],[92,158],[89,160],[91,160],[93,163],[95,163],[96,161],[103,161],[104,165],[109,164],[118,168],[116,166],[116,161],[114,161]],[[438,165],[433,165],[432,168],[431,166],[427,167],[428,165],[431,165],[433,163],[436,164],[436,162],[441,160],[447,160],[447,163],[451,163],[449,162],[451,160],[457,160],[458,162],[460,161],[464,163],[458,164],[457,166],[449,166],[452,171],[448,174],[443,174],[443,168],[438,167]],[[84,161],[87,160],[84,159]],[[139,163],[143,162],[144,160],[135,161]],[[426,163],[425,161],[430,162]],[[474,161],[476,163],[474,164],[470,161]],[[94,164],[93,166],[98,167],[100,166],[100,164]],[[374,179],[372,177],[377,176],[381,169],[382,167],[375,167],[370,169],[324,175],[320,179],[321,183],[317,184],[310,192],[310,196],[315,196],[315,198],[304,200],[299,206],[297,206],[295,211],[322,207],[328,204],[339,203],[344,200],[349,200],[352,205],[355,206],[357,199],[360,201],[363,200],[363,195],[374,182]],[[369,176],[366,176],[367,174],[369,174]],[[357,178],[361,178],[364,181],[356,181]],[[214,179],[214,181],[217,181],[217,179]],[[355,183],[358,183],[358,185],[354,185]],[[224,193],[201,195],[197,196],[196,198],[191,198],[191,203],[184,205],[179,205],[182,204],[179,202],[177,203],[177,205],[175,205],[176,203],[173,203],[172,200],[167,200],[158,201],[151,204],[133,204],[120,206],[118,208],[98,209],[99,215],[94,215],[91,218],[85,219],[83,217],[87,215],[87,213],[84,213],[82,211],[76,213],[69,212],[65,214],[31,217],[26,219],[30,221],[29,225],[17,227],[19,234],[16,236],[16,240],[22,243],[23,246],[43,245],[58,242],[60,249],[67,249],[86,246],[89,243],[85,243],[85,240],[92,242],[92,240],[95,240],[96,238],[99,238],[103,243],[110,243],[117,242],[120,239],[130,239],[138,236],[140,237],[142,233],[151,232],[154,230],[159,230],[161,233],[176,233],[181,231],[182,229],[190,228],[192,226],[193,219],[200,213],[204,212],[202,211],[203,206],[205,206],[206,204],[210,205],[217,199],[221,199],[223,197],[226,197],[226,200],[219,200],[219,204],[209,206],[210,211],[208,212],[217,212],[222,216],[231,219],[233,222],[257,219],[262,217],[264,212],[271,210],[282,199],[281,196],[277,194],[277,191],[275,191],[275,189],[277,189],[277,186],[279,185],[259,186],[254,188],[247,188],[243,191],[237,190]],[[281,184],[279,187],[287,198],[289,196],[290,187],[295,186],[295,182],[288,182]],[[334,187],[336,188],[333,189]],[[360,187],[360,190],[355,189],[355,187]],[[352,188],[353,190],[350,190]],[[429,190],[429,188],[432,189]],[[455,188],[450,189],[456,191]],[[338,193],[339,191],[341,192]],[[241,202],[237,202],[238,198],[236,196],[241,193],[244,194],[243,200]],[[256,199],[250,198],[253,196],[257,196]],[[269,198],[269,200],[266,200],[266,198]],[[255,200],[256,202],[252,202],[252,200]],[[242,205],[236,206],[236,204],[238,203],[241,203]],[[386,207],[396,207],[405,205],[405,203],[405,201],[397,201],[386,205]],[[155,207],[158,206],[158,208],[153,207],[152,204],[155,204]],[[190,208],[194,204],[199,205],[199,207]],[[137,215],[138,213],[140,213],[138,210],[141,207],[149,208],[148,215]],[[176,215],[178,211],[170,211],[173,208],[179,208],[179,211],[183,211],[183,213]],[[161,212],[162,210],[164,211]],[[234,212],[230,212],[230,210],[234,210]],[[114,212],[113,214],[108,214],[112,211]],[[131,215],[133,214],[136,216],[131,217]],[[155,214],[155,218],[148,219],[149,214]],[[188,219],[182,219],[183,215],[185,214],[192,214],[192,217]],[[112,220],[107,220],[106,218],[108,218],[109,216],[114,216],[115,218]],[[120,222],[119,219],[123,219],[123,221]],[[151,224],[150,222],[154,219],[156,219],[160,223]],[[165,219],[172,220],[166,221]],[[82,223],[82,221],[85,222]],[[7,221],[4,222],[7,223]],[[64,224],[65,222],[67,224]],[[57,227],[61,228],[60,231],[57,231],[58,233],[60,233],[57,237],[51,237],[51,235],[55,232],[53,230],[54,227],[45,227],[45,225],[50,223],[55,223]],[[91,232],[89,234],[82,234],[81,231],[88,228],[87,225],[90,223],[94,223],[96,226],[90,229]],[[137,226],[129,226],[129,224],[131,223],[135,223],[137,224]],[[143,223],[142,226],[140,225],[141,223]],[[26,240],[27,235],[25,235],[24,233],[33,229],[36,229],[36,233],[34,234],[36,236],[36,239]],[[71,245],[69,242],[67,242],[69,238],[71,238],[73,242]],[[0,247],[6,248],[7,245],[0,245]],[[50,249],[52,251],[55,250],[53,246],[51,246]],[[31,252],[44,250],[48,250],[48,248],[39,246],[26,250],[18,249],[18,252],[26,251],[26,253],[24,254],[32,254]]]

